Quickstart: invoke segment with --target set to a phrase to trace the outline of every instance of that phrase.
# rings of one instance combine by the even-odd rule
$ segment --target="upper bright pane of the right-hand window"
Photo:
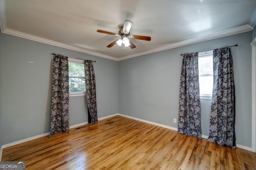
[[[213,61],[212,56],[210,57],[199,57],[198,58],[198,72],[201,74],[213,74]]]

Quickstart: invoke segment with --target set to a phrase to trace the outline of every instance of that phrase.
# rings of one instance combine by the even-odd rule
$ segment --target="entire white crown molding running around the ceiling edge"
[[[236,28],[233,28],[233,29],[220,31],[218,33],[214,33],[214,34],[210,34],[210,35],[204,35],[202,37],[197,37],[197,38],[194,38],[194,39],[188,39],[188,40],[185,40],[185,41],[180,41],[178,43],[172,43],[172,44],[164,46],[164,47],[159,47],[159,48],[156,48],[156,49],[151,49],[151,50],[148,50],[148,51],[143,51],[143,52],[140,52],[140,53],[136,53],[136,54],[116,58],[116,57],[112,57],[112,56],[109,56],[109,55],[104,55],[104,54],[97,53],[97,52],[94,52],[94,51],[86,50],[86,49],[83,49],[83,48],[80,48],[80,47],[75,47],[75,46],[72,46],[72,45],[67,45],[67,44],[64,44],[64,43],[59,43],[57,41],[52,41],[52,40],[49,40],[49,39],[44,39],[44,38],[37,37],[37,36],[34,36],[34,35],[30,35],[30,34],[22,33],[22,32],[19,32],[19,31],[12,30],[12,29],[8,29],[7,28],[7,22],[6,22],[5,0],[0,0],[0,29],[1,29],[2,33],[14,35],[14,36],[17,36],[17,37],[22,37],[22,38],[25,38],[25,39],[30,39],[30,40],[33,40],[33,41],[38,41],[38,42],[41,42],[41,43],[46,43],[46,44],[49,44],[49,45],[54,45],[54,46],[57,46],[57,47],[62,47],[62,48],[65,48],[65,49],[79,51],[81,53],[95,55],[95,56],[98,56],[98,57],[103,57],[103,58],[114,60],[114,61],[122,61],[122,60],[125,60],[125,59],[130,59],[130,58],[138,57],[138,56],[141,56],[141,55],[155,53],[155,52],[158,52],[158,51],[164,51],[164,50],[167,50],[167,49],[173,49],[173,48],[176,48],[176,47],[182,47],[182,46],[185,46],[185,45],[200,43],[202,41],[208,41],[208,40],[212,40],[212,39],[226,37],[226,36],[229,36],[229,35],[244,33],[244,32],[247,32],[247,31],[251,31],[255,25],[256,25],[256,9],[254,10],[254,12],[251,16],[248,25],[243,25],[243,26],[236,27]]]

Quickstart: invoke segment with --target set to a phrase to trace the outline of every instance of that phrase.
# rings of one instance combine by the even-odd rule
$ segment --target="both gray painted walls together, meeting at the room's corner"
[[[0,145],[49,132],[50,53],[96,60],[98,117],[114,113],[177,127],[181,53],[232,47],[236,88],[237,144],[251,147],[252,31],[112,61],[0,33]],[[34,63],[28,63],[32,61]],[[208,135],[210,100],[201,100],[202,133]],[[70,97],[70,125],[87,120],[84,96]]]

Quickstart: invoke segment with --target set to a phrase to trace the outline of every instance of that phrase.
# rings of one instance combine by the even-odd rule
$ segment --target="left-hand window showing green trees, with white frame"
[[[85,95],[84,61],[68,58],[69,96]]]

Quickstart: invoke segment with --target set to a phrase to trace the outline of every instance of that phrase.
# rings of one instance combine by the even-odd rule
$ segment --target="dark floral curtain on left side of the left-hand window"
[[[53,54],[50,137],[54,133],[69,133],[68,90],[68,57]]]

